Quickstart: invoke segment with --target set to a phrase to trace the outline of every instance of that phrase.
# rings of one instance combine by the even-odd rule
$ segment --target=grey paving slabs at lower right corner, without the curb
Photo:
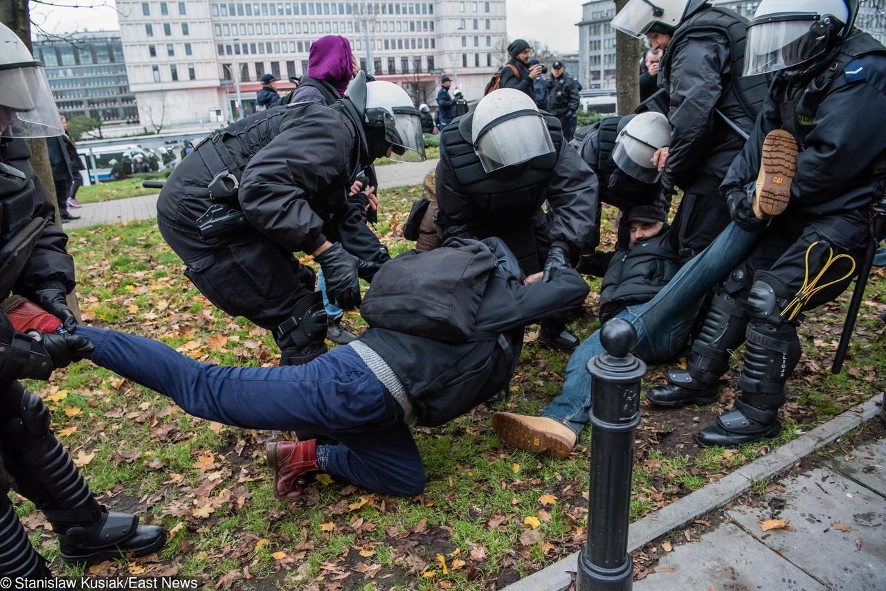
[[[780,484],[768,506],[729,509],[731,523],[665,554],[634,591],[886,589],[886,439]],[[790,529],[764,533],[772,517]]]

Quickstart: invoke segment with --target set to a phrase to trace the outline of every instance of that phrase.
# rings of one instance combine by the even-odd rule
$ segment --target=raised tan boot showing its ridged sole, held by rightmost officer
[[[797,174],[797,141],[784,129],[773,129],[763,140],[763,157],[754,195],[754,214],[761,220],[781,214],[790,200],[790,183]]]

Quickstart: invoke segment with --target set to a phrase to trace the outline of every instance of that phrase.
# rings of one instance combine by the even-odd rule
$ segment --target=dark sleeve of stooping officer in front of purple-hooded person
[[[238,197],[246,220],[291,252],[315,253],[327,242],[323,219],[308,199],[338,183],[349,167],[353,139],[336,133],[336,127],[324,134],[316,129],[284,130],[253,156],[240,181]]]

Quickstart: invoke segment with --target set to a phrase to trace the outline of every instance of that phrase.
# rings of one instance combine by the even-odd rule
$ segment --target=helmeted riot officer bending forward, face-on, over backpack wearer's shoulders
[[[571,267],[595,233],[596,175],[565,142],[560,121],[517,89],[491,92],[443,130],[437,200],[444,239],[499,237],[527,276]],[[543,323],[539,340],[579,345],[565,323]]]

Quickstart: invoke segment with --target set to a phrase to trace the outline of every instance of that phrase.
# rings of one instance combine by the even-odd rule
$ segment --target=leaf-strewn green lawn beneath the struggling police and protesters
[[[417,186],[381,191],[375,229],[392,253],[411,245],[401,229],[420,195]],[[614,241],[611,214],[606,207],[604,245]],[[69,248],[84,322],[158,338],[200,361],[276,363],[267,331],[224,315],[181,275],[181,261],[154,222],[76,229]],[[697,430],[705,426],[703,417],[710,415],[703,412],[710,409],[641,407],[632,519],[721,478],[882,389],[878,373],[886,367],[886,353],[875,302],[886,300],[886,281],[882,270],[875,273],[843,374],[832,376],[828,367],[848,294],[808,315],[800,330],[804,359],[789,383],[779,439],[736,449],[700,449],[691,439],[674,445],[674,434],[666,434],[676,428],[674,422],[680,419],[690,424],[689,432]],[[591,285],[586,314],[572,324],[582,338],[598,326],[599,280]],[[346,323],[357,330],[365,326],[357,313],[347,313]],[[566,362],[566,354],[528,343],[510,398],[497,408],[540,412],[559,393]],[[656,381],[663,369],[651,367],[648,381]],[[187,416],[163,396],[89,362],[28,387],[46,400],[71,455],[81,461],[91,455],[82,472],[100,502],[178,528],[158,556],[133,564],[105,563],[97,573],[144,568],[145,574],[157,574],[177,568],[182,575],[206,575],[213,585],[238,573],[234,587],[285,589],[315,582],[323,588],[349,573],[338,581],[349,589],[486,589],[537,571],[584,540],[590,430],[581,434],[576,454],[556,461],[501,446],[490,427],[493,411],[481,406],[443,427],[414,431],[428,474],[423,495],[400,499],[347,483],[317,483],[307,488],[304,500],[287,503],[273,496],[263,459],[264,443],[278,439],[278,432],[245,431]],[[702,422],[692,424],[700,416]],[[766,484],[754,486],[765,490]],[[363,506],[361,498],[367,501]],[[43,530],[34,505],[16,504],[37,547],[62,572],[58,545]],[[536,533],[527,533],[532,530],[527,517],[539,520]],[[439,555],[446,560],[446,574]],[[243,579],[244,569],[253,579]]]

